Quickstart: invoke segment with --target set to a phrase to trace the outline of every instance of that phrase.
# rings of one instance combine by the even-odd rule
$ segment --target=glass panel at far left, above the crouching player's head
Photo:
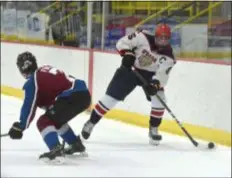
[[[86,2],[1,2],[1,39],[86,46]]]

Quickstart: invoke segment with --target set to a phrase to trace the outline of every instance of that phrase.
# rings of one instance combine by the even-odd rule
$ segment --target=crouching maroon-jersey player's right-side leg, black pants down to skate
[[[67,122],[88,109],[90,102],[91,96],[89,91],[73,92],[69,97],[58,99],[54,107],[48,112],[48,115],[54,118],[54,122],[56,122],[58,134],[69,144],[69,147],[65,149],[65,154],[82,153],[85,151],[85,146],[82,144],[80,136],[75,135]],[[54,110],[57,111],[57,116],[55,117],[52,115]]]

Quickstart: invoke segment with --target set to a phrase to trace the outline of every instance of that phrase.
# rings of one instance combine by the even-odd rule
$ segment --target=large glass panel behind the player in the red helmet
[[[159,22],[171,26],[176,56],[231,60],[231,2],[108,2],[104,48],[137,27],[154,33]]]

